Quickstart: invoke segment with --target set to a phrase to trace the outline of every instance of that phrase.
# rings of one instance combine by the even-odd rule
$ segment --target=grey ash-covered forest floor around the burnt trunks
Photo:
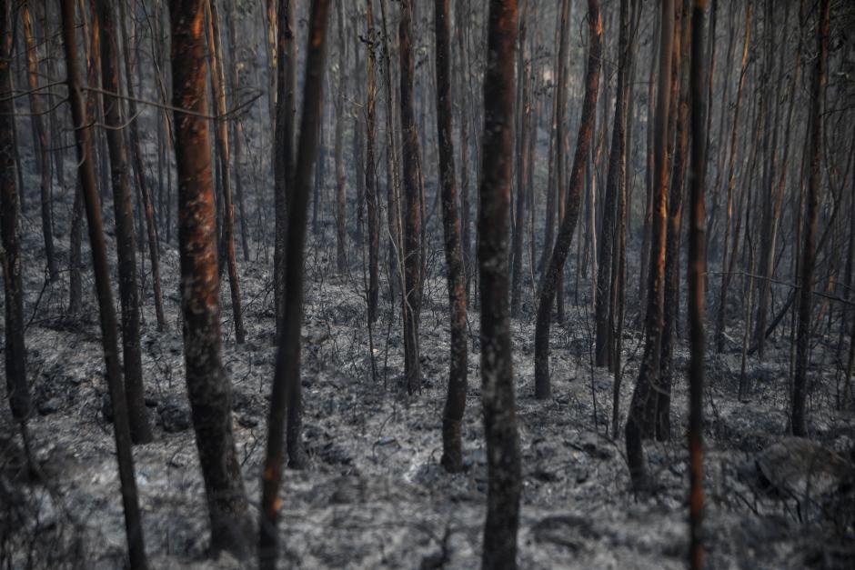
[[[58,215],[66,215],[69,205],[70,193]],[[108,205],[105,213],[112,238]],[[85,272],[85,311],[78,319],[67,319],[67,273],[59,283],[45,285],[37,220],[31,209],[23,227],[25,315],[30,319],[27,365],[35,410],[28,424],[30,446],[44,479],[27,475],[22,440],[4,400],[0,566],[121,567],[126,541],[112,425],[101,414],[106,383],[94,282]],[[66,221],[57,226],[67,227]],[[469,310],[464,427],[468,471],[447,475],[438,465],[448,375],[448,295],[440,246],[428,252],[428,275],[434,276],[425,287],[421,316],[424,385],[420,394],[407,396],[400,387],[403,346],[397,307],[390,325],[387,298],[381,301],[383,312],[369,339],[360,253],[350,252],[350,275],[335,275],[333,228],[322,225],[322,230],[327,235],[310,236],[307,247],[303,325],[304,436],[311,461],[306,470],[287,470],[285,475],[280,519],[283,567],[477,567],[487,483],[478,310]],[[67,241],[66,234],[56,235],[64,267]],[[246,567],[251,563],[207,555],[205,497],[189,425],[177,319],[178,254],[175,245],[162,247],[169,323],[164,333],[156,331],[150,276],[143,284],[143,365],[156,439],[134,449],[146,551],[156,568]],[[110,248],[114,255],[112,243]],[[256,520],[267,397],[277,349],[272,250],[258,248],[252,257],[239,264],[245,345],[234,341],[226,280],[221,303],[223,362],[234,391],[236,445]],[[89,260],[86,246],[85,260]],[[568,271],[574,275],[575,268],[571,265]],[[568,296],[566,323],[553,325],[554,397],[548,402],[533,397],[534,307],[528,295],[524,307],[528,316],[512,323],[524,474],[519,566],[684,567],[689,487],[685,346],[679,345],[675,355],[672,439],[646,445],[655,492],[634,495],[623,451],[623,420],[618,437],[610,433],[612,376],[591,365],[593,315],[588,289],[579,292],[578,305],[574,295]],[[629,405],[641,353],[634,297],[629,295],[624,341],[622,414]],[[837,336],[824,336],[825,328],[820,327],[812,350],[810,424],[814,440],[822,445],[818,447],[786,439],[789,336],[773,339],[762,363],[749,358],[748,390],[739,402],[742,326],[732,325],[729,334],[734,340],[726,354],[710,355],[707,363],[709,567],[855,566],[850,463],[855,423],[851,411],[835,410],[841,382]],[[776,446],[781,441],[790,445],[783,453]],[[817,462],[816,457],[823,459]],[[781,473],[789,475],[777,476]]]

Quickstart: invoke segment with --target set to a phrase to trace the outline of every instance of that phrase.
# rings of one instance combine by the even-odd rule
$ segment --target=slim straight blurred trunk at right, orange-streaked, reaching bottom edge
[[[689,567],[704,565],[703,512],[704,272],[706,271],[707,75],[704,16],[707,0],[694,0],[691,15],[691,155],[689,157]],[[715,30],[715,27],[713,27]],[[713,41],[714,38],[713,38]]]

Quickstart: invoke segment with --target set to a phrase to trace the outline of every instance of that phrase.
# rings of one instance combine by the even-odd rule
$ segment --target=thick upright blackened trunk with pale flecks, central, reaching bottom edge
[[[592,0],[595,2],[596,0]],[[487,439],[483,568],[517,567],[521,475],[508,317],[508,208],[513,161],[516,0],[490,0],[478,192],[481,397]]]

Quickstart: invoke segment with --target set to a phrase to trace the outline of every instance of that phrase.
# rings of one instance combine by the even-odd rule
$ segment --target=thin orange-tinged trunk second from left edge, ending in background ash
[[[59,279],[59,268],[56,265],[54,253],[53,214],[51,211],[51,171],[50,155],[47,146],[47,131],[42,120],[42,100],[38,92],[38,56],[37,45],[33,35],[33,24],[28,5],[21,6],[21,19],[24,21],[24,39],[26,45],[26,78],[30,87],[30,112],[33,123],[35,140],[38,142],[34,153],[38,156],[38,171],[40,175],[39,191],[41,195],[42,235],[45,239],[45,257],[47,259],[47,274],[50,280]],[[9,30],[12,33],[12,30]]]

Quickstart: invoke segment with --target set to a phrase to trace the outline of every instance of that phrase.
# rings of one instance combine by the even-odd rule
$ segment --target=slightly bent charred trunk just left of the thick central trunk
[[[458,189],[454,175],[454,145],[451,121],[451,14],[449,0],[436,0],[434,22],[437,34],[437,132],[439,135],[439,182],[442,189],[442,227],[445,235],[448,272],[448,305],[451,310],[451,363],[448,397],[442,416],[441,463],[451,473],[463,469],[460,435],[466,409],[466,275],[460,245]],[[462,25],[462,23],[458,23]]]

